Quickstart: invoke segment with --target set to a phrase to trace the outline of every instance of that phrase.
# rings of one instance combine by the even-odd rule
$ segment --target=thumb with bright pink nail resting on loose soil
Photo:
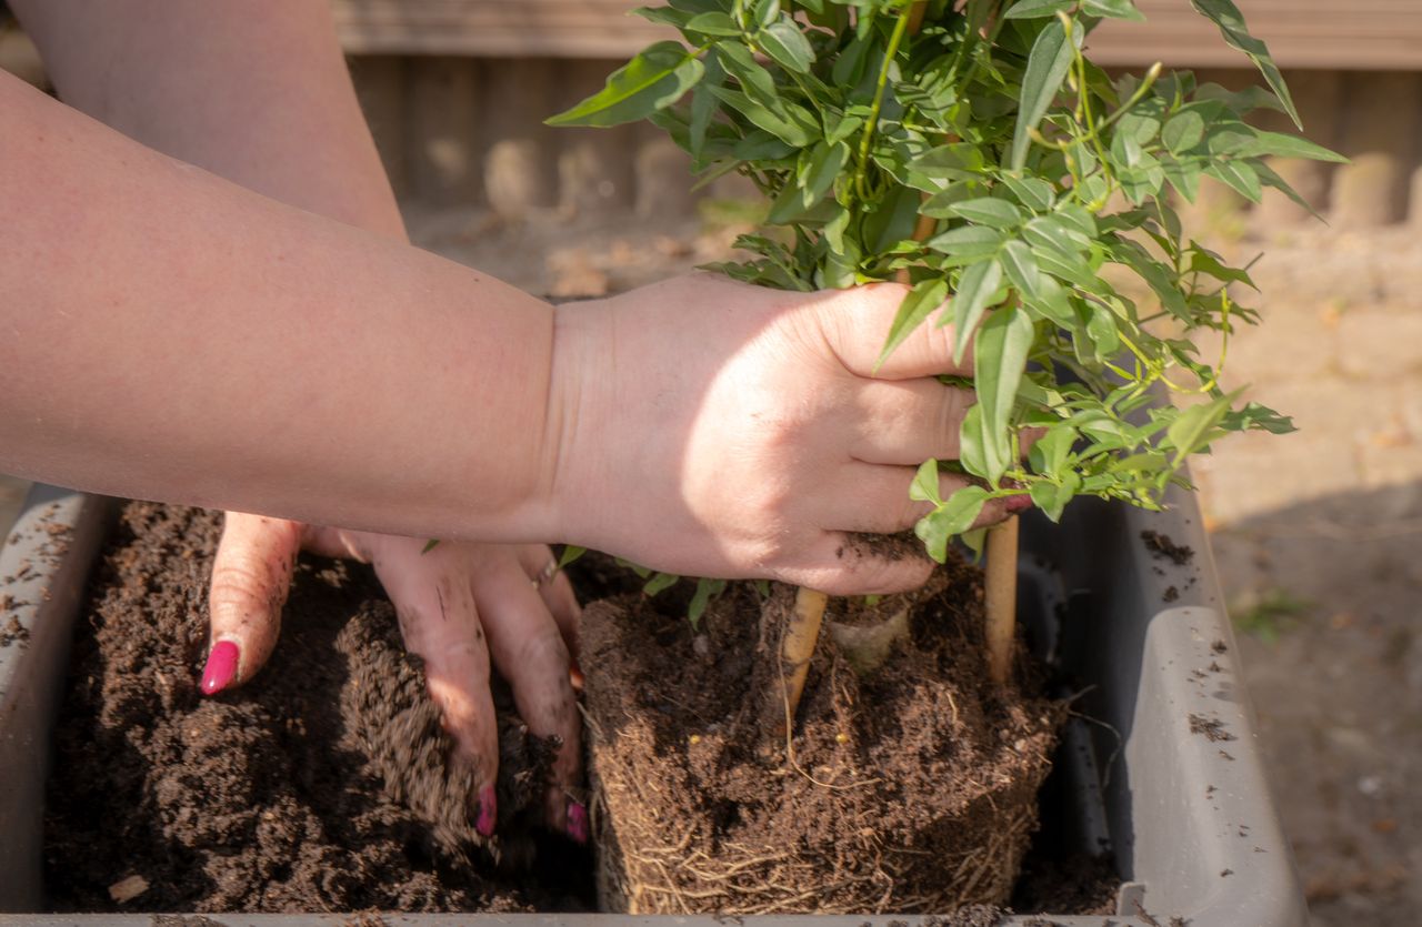
[[[203,695],[246,682],[272,655],[300,547],[299,522],[226,513],[208,593]]]

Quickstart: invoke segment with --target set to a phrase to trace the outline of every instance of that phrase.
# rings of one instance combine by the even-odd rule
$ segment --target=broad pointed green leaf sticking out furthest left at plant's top
[[[681,100],[704,73],[695,51],[675,41],[658,41],[613,71],[602,91],[549,118],[547,124],[607,127],[636,122]]]

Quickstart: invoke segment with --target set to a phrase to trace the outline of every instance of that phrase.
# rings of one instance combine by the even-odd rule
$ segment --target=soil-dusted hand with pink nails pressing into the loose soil
[[[569,680],[579,606],[567,577],[552,569],[553,556],[542,545],[425,546],[414,537],[228,512],[212,569],[203,694],[246,682],[272,655],[301,547],[370,563],[395,606],[405,645],[425,661],[429,697],[458,758],[474,769],[475,829],[489,836],[498,819],[492,657],[529,729],[563,742],[545,802],[547,826],[586,842],[587,809],[570,798],[580,776],[582,721]]]

